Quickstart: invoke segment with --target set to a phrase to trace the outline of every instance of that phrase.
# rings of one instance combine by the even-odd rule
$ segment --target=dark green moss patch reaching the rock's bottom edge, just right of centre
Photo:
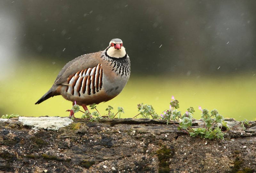
[[[174,155],[174,150],[166,148],[166,146],[156,151],[158,161],[159,161],[159,173],[170,172],[170,158]]]

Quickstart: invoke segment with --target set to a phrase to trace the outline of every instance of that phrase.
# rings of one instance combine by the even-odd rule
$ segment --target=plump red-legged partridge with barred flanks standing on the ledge
[[[112,39],[105,50],[69,61],[60,70],[50,90],[35,104],[61,95],[86,111],[87,105],[107,102],[120,94],[130,73],[131,62],[123,41]],[[73,110],[67,111],[70,112],[69,118],[75,117]]]

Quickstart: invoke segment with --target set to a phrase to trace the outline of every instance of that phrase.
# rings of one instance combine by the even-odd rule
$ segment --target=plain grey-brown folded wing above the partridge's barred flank
[[[60,71],[59,75],[57,76],[54,84],[68,84],[68,77],[70,75],[74,75],[78,71],[96,67],[97,64],[100,63],[100,56],[102,51],[92,53],[92,54],[85,54],[75,58],[72,61],[69,61]]]

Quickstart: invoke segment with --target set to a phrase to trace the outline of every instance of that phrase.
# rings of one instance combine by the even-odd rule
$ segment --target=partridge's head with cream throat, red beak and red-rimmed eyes
[[[111,58],[123,58],[126,55],[123,41],[121,39],[112,39],[107,47],[107,55]]]

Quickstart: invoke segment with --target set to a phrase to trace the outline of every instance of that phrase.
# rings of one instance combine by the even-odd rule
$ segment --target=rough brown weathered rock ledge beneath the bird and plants
[[[8,119],[0,121],[0,172],[252,173],[255,126],[250,122],[245,131],[241,127],[228,131],[228,139],[206,140],[189,137],[163,120],[75,119],[52,131],[51,126],[33,129],[18,118]]]

